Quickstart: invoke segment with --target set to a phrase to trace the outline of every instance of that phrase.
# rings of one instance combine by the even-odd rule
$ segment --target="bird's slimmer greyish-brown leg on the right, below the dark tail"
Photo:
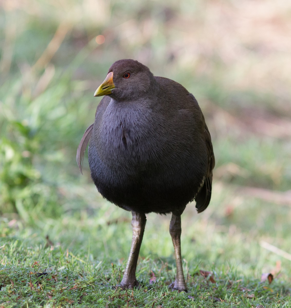
[[[176,257],[176,267],[177,275],[175,282],[171,284],[173,290],[180,290],[187,292],[186,282],[183,274],[182,268],[182,257],[181,257],[181,215],[175,215],[172,213],[172,219],[170,222],[170,234],[172,237],[175,257]]]

